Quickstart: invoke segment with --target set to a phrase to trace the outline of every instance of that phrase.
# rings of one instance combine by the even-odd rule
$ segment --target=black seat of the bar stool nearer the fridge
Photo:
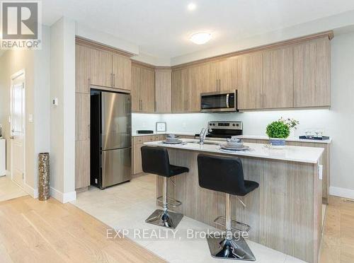
[[[183,166],[170,165],[169,153],[166,148],[153,146],[142,146],[142,170],[144,173],[164,177],[172,177],[189,171]]]

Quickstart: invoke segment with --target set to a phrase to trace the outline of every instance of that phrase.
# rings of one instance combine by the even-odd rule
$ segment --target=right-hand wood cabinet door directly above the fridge
[[[130,90],[132,62],[129,57],[113,54],[113,88]]]

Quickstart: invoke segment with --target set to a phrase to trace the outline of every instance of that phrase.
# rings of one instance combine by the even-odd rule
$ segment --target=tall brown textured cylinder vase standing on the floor
[[[39,186],[38,199],[45,201],[50,198],[50,158],[49,153],[38,154]]]

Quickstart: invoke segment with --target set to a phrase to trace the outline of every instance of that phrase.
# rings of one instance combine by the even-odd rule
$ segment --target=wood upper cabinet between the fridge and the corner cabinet
[[[154,112],[155,72],[139,64],[132,64],[132,111]]]

